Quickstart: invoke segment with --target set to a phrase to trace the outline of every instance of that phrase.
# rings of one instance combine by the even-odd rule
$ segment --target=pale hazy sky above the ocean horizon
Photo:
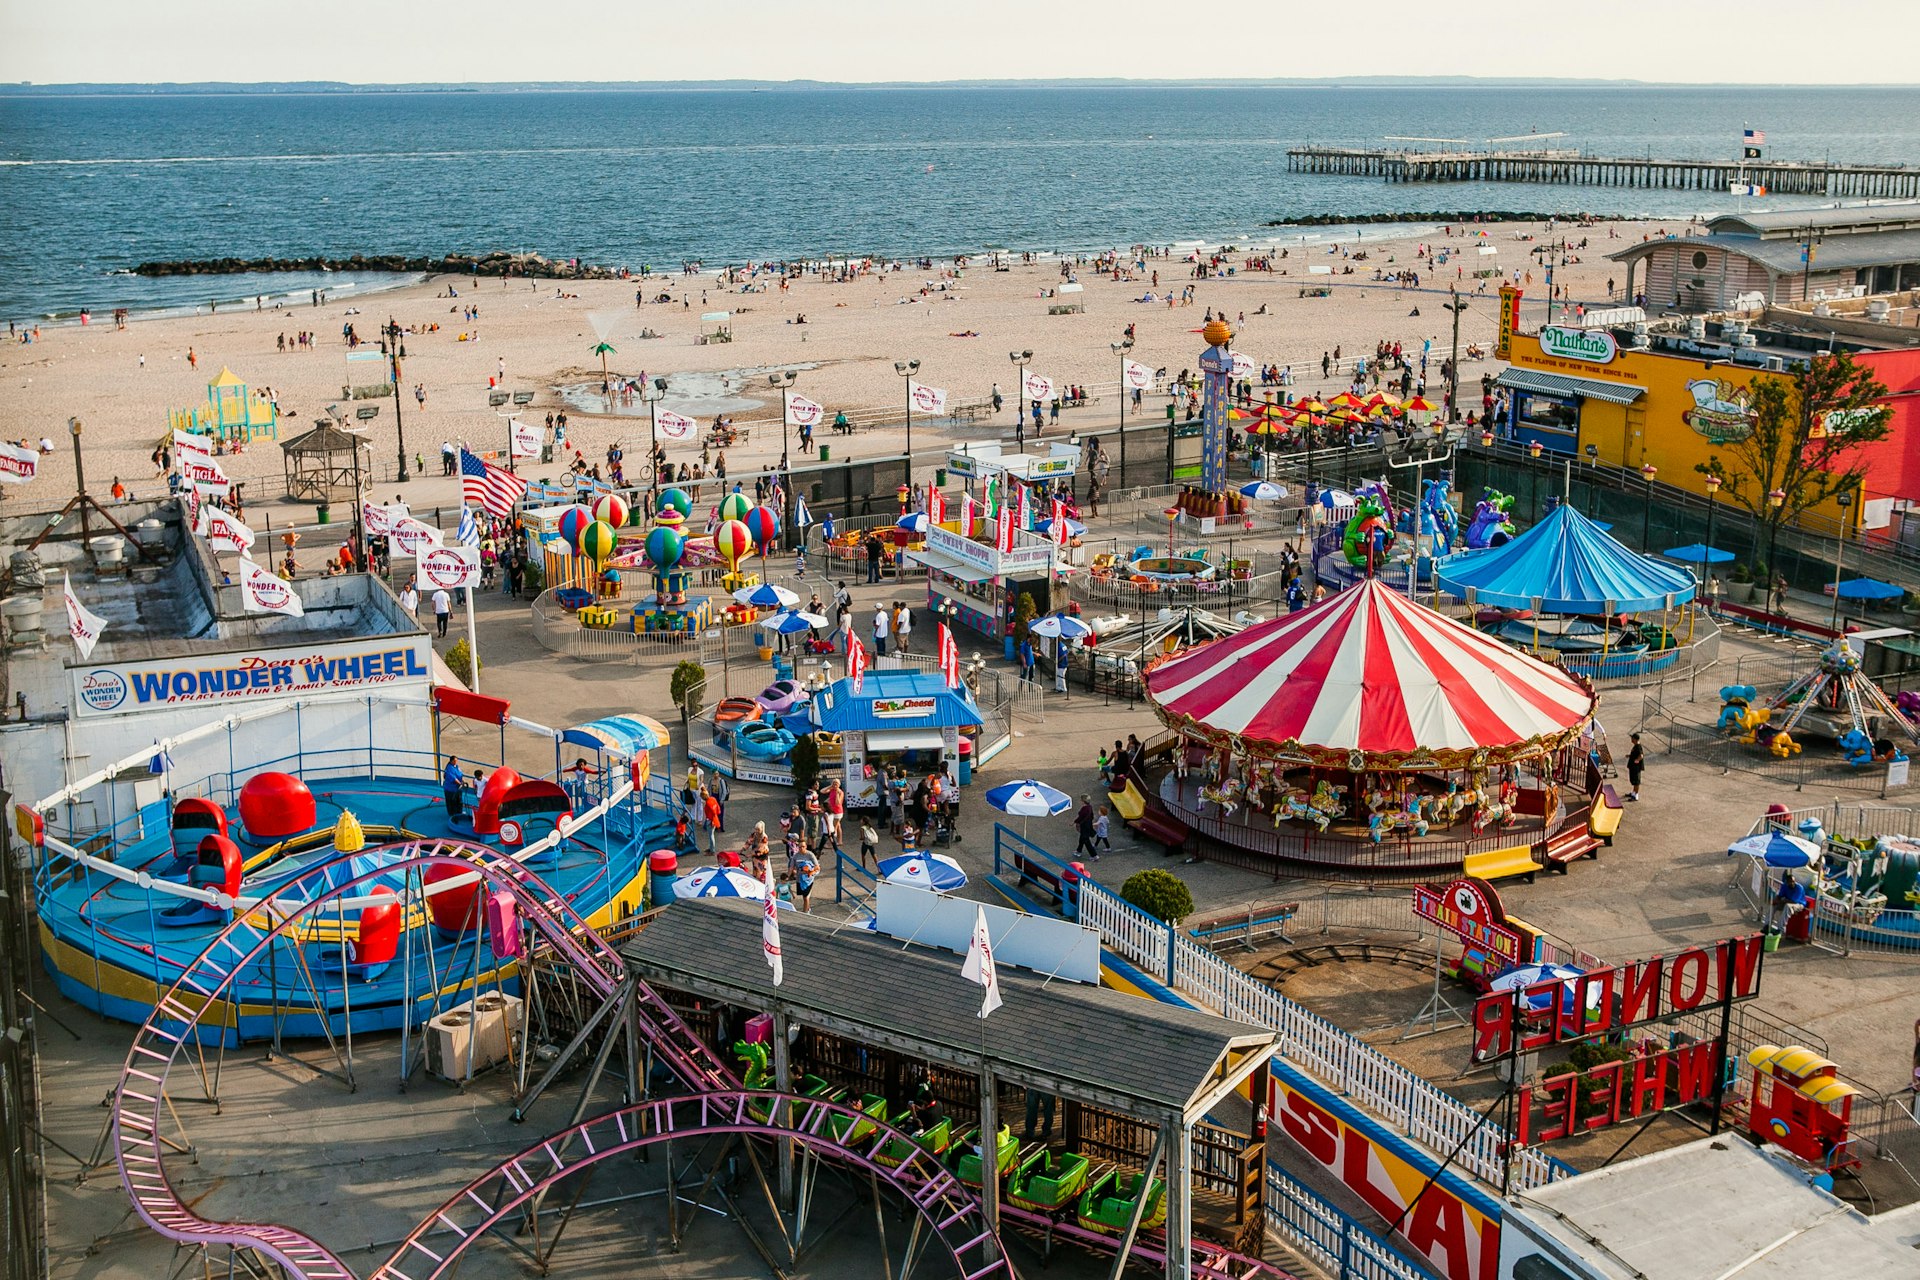
[[[1914,83],[1916,0],[0,0],[0,81]],[[1208,36],[1204,31],[1217,31]]]

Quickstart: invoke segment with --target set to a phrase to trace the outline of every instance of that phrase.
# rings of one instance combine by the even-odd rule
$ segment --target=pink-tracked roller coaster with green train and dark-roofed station
[[[586,1071],[572,1119],[559,1132],[457,1188],[371,1276],[451,1276],[482,1247],[518,1251],[543,1274],[564,1267],[559,1249],[568,1224],[597,1203],[582,1203],[586,1178],[614,1157],[664,1148],[668,1159],[649,1176],[664,1178],[664,1201],[655,1213],[676,1251],[708,1244],[712,1230],[701,1224],[720,1215],[739,1224],[770,1268],[787,1270],[820,1247],[816,1240],[843,1234],[849,1211],[870,1196],[887,1274],[910,1272],[916,1259],[939,1259],[937,1272],[958,1276],[1012,1274],[1002,1240],[1020,1230],[1043,1253],[1069,1242],[1129,1253],[1167,1276],[1284,1280],[1284,1272],[1219,1240],[1233,1236],[1258,1251],[1265,1222],[1261,1178],[1238,1178],[1250,1190],[1236,1211],[1223,1196],[1204,1194],[1198,1205],[1194,1196],[1196,1180],[1221,1184],[1212,1173],[1221,1144],[1242,1169],[1263,1167],[1261,1134],[1235,1138],[1204,1117],[1236,1088],[1265,1092],[1273,1032],[1094,986],[1004,973],[1008,1011],[1025,1009],[1023,1025],[1033,1021],[1052,1032],[1102,1025],[1129,1032],[1127,1046],[1148,1038],[1165,1052],[1148,1063],[1119,1042],[1106,1048],[1094,1038],[1012,1034],[1012,1027],[998,1032],[1012,1044],[996,1048],[979,1040],[972,1017],[977,994],[950,973],[958,963],[952,956],[902,954],[864,931],[854,936],[789,917],[785,927],[797,936],[785,983],[770,988],[758,956],[745,948],[749,935],[756,942],[760,933],[753,904],[668,908],[634,921],[616,948],[547,883],[484,846],[422,841],[392,865],[411,885],[449,885],[484,898],[495,940],[526,967],[530,1017],[549,1019],[545,1034],[572,1031],[538,1080],[530,1079],[530,1042],[515,1044],[509,1031],[518,1071],[515,1119],[563,1073]],[[129,1052],[104,1142],[134,1213],[163,1238],[204,1249],[209,1263],[225,1249],[234,1263],[261,1259],[290,1276],[355,1276],[317,1232],[213,1221],[182,1201],[165,1167],[171,1151],[184,1150],[167,1132],[169,1119],[179,1123],[169,1079],[182,1057],[204,1054],[188,1046],[219,1040],[205,1023],[227,1004],[234,973],[296,944],[303,929],[336,912],[336,898],[363,894],[378,875],[355,873],[351,854],[340,854],[300,879],[298,908],[234,917],[156,1004]],[[876,990],[849,990],[845,973],[854,969],[872,977]],[[459,990],[442,992],[430,975],[419,977],[422,994],[432,990],[411,1002],[424,1021]],[[920,998],[908,1000],[906,990]],[[939,1007],[920,1009],[922,1002]],[[714,1048],[733,1038],[732,1029],[741,1032],[735,1054],[745,1079]],[[351,1050],[332,1048],[338,1079],[351,1088]],[[403,1063],[405,1079],[413,1059],[403,1055]],[[198,1065],[186,1088],[217,1103],[223,1075],[217,1065],[209,1071],[204,1057]],[[611,1105],[595,1102],[603,1080],[624,1080]],[[1060,1100],[1062,1150],[1014,1138],[1008,1111],[1020,1090],[1046,1090]],[[931,1123],[906,1121],[899,1107],[904,1096],[933,1100],[950,1113]],[[972,1115],[962,1111],[968,1103]],[[991,1165],[970,1128],[996,1136]],[[728,1169],[739,1186],[732,1174],[718,1178]],[[718,1203],[708,1203],[714,1197]],[[904,1257],[899,1244],[889,1244],[887,1205],[912,1221]],[[755,1222],[774,1221],[774,1236],[749,1222],[749,1207]],[[1208,1234],[1187,1234],[1196,1219],[1196,1230]],[[632,1211],[618,1221],[628,1226]]]

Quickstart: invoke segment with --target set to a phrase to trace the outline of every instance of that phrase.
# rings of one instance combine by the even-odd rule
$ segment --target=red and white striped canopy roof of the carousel
[[[1580,735],[1596,700],[1379,580],[1160,658],[1146,697],[1190,739],[1356,771],[1546,754]]]

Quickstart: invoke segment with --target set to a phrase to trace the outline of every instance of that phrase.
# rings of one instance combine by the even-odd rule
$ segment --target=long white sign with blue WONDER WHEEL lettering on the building
[[[73,708],[84,720],[401,683],[424,687],[428,674],[424,637],[113,662],[73,668]]]

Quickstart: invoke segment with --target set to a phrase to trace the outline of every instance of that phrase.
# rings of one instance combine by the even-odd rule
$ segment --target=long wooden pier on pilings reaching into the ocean
[[[1920,169],[1828,165],[1774,159],[1628,159],[1578,152],[1390,152],[1302,146],[1286,152],[1292,173],[1327,173],[1386,182],[1540,182],[1559,186],[1661,186],[1726,192],[1753,182],[1770,196],[1920,198]]]

